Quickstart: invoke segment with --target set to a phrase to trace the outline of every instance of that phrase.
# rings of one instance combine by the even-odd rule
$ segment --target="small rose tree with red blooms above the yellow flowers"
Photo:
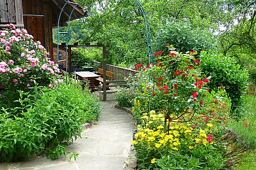
[[[150,90],[154,109],[164,112],[166,120],[179,120],[189,109],[200,111],[210,80],[200,77],[200,61],[195,58],[195,51],[183,54],[172,45],[167,47],[169,54],[162,56],[161,51],[156,52],[155,64],[146,68],[145,73],[153,83]]]

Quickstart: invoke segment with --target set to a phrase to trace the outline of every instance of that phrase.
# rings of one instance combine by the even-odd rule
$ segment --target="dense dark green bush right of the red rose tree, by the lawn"
[[[223,85],[232,102],[233,116],[241,116],[241,96],[247,87],[248,72],[236,64],[235,59],[218,53],[201,52],[201,68],[205,76],[211,76],[209,88]]]

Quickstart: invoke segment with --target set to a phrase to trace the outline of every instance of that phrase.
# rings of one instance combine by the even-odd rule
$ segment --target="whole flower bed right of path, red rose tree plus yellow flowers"
[[[135,116],[142,115],[132,141],[139,169],[225,169],[225,144],[219,139],[226,132],[231,101],[221,87],[207,89],[210,77],[201,76],[195,51],[167,48],[167,55],[155,53],[155,64],[136,66],[142,70],[139,77],[151,79],[138,82],[141,93],[134,99]],[[146,112],[140,94],[151,94],[148,104],[155,111]]]

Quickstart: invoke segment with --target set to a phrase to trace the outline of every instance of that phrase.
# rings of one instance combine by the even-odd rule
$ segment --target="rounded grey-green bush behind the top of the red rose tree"
[[[186,22],[169,22],[157,32],[155,37],[155,49],[167,53],[168,48],[165,43],[174,45],[178,52],[188,50],[216,49],[216,37],[205,29],[196,29]]]

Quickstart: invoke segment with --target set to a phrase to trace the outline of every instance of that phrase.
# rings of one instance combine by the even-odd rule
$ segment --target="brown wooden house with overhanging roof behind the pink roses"
[[[67,0],[0,0],[0,27],[13,23],[17,28],[27,29],[40,41],[53,59],[53,27],[58,25],[58,16]],[[68,21],[72,9],[76,6],[69,1],[60,17],[60,26]],[[87,17],[87,11],[77,6],[71,15],[71,20]]]

